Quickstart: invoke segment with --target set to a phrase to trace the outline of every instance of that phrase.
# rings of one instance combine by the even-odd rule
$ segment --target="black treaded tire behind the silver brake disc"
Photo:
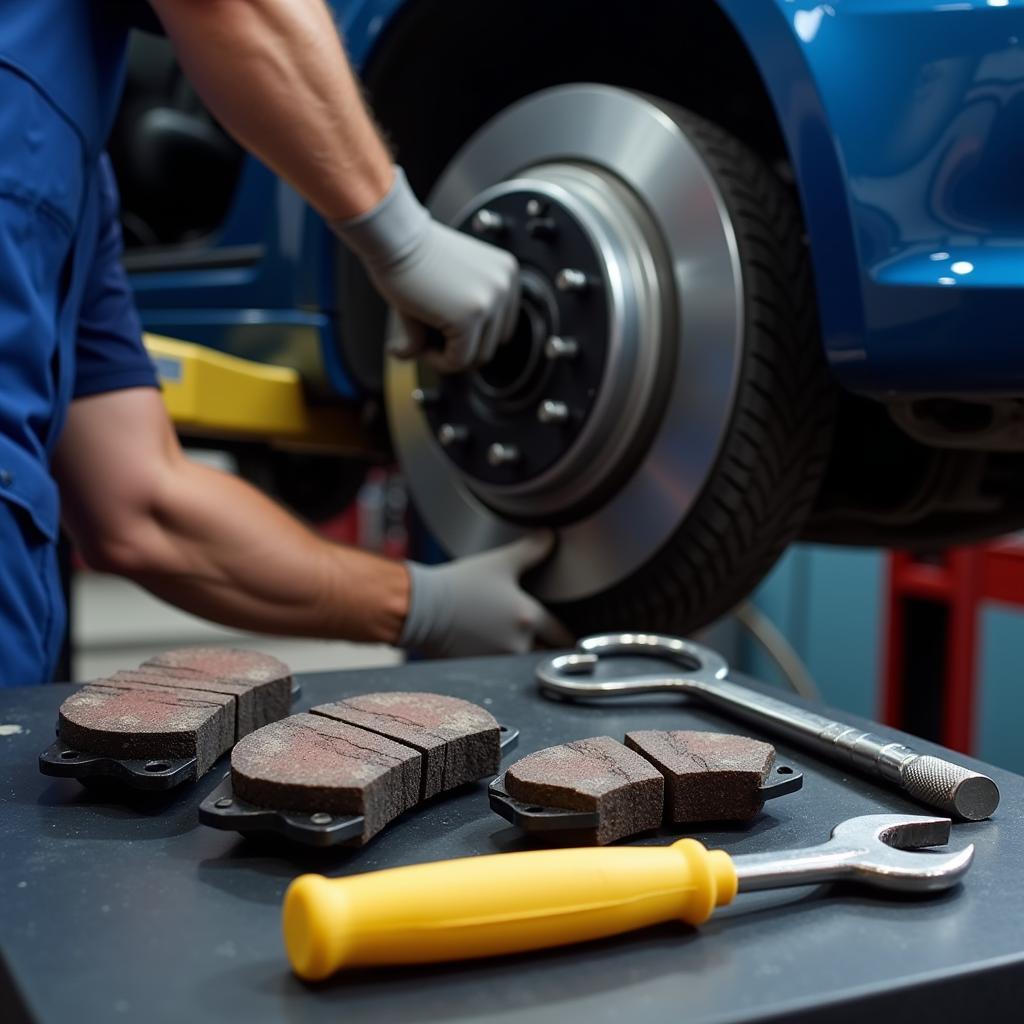
[[[837,392],[796,197],[727,132],[679,119],[721,190],[741,265],[735,403],[703,493],[657,555],[606,593],[556,607],[579,631],[687,633],[728,612],[800,534],[831,450]]]

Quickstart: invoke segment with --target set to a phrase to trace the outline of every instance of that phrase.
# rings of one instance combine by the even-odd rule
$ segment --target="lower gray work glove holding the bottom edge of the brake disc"
[[[399,646],[432,657],[522,654],[538,642],[571,647],[572,635],[519,586],[553,544],[550,534],[534,534],[445,565],[408,562],[412,595]]]

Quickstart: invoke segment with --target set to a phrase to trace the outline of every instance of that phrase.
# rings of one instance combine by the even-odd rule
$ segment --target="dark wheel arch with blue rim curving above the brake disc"
[[[524,95],[573,81],[645,91],[722,126],[783,177],[792,168],[826,348],[860,338],[859,271],[839,156],[799,40],[774,0],[377,6],[390,17],[369,51],[352,45],[366,54],[374,113],[421,195],[476,129]],[[354,261],[342,258],[338,269],[346,361],[364,387],[379,391],[383,306]]]

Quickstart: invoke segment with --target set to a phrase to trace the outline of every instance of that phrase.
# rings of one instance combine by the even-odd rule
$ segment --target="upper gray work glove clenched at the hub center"
[[[393,355],[422,352],[441,373],[455,373],[489,361],[512,334],[519,312],[515,257],[434,220],[400,167],[373,210],[331,226],[402,318],[404,337],[390,343]],[[428,328],[444,336],[443,350],[425,351]]]

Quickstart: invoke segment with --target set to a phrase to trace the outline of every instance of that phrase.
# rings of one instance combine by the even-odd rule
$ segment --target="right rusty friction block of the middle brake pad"
[[[426,800],[498,772],[501,732],[494,716],[468,700],[440,693],[362,693],[318,705],[331,718],[404,743],[423,755]]]

